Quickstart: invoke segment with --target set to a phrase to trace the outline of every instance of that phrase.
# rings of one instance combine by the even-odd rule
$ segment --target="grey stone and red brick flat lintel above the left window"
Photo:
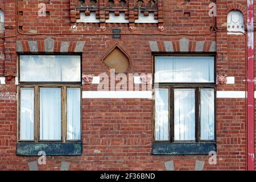
[[[16,42],[16,52],[82,52],[85,41],[56,41],[47,38],[43,41]]]

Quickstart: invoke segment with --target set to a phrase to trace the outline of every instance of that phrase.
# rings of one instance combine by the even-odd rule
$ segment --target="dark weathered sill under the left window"
[[[37,156],[39,151],[46,152],[47,156],[82,155],[82,143],[19,142],[16,146],[16,155]]]

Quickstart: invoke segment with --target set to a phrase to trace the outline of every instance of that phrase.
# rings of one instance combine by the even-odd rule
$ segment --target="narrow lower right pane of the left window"
[[[67,139],[80,139],[80,88],[67,89],[68,126]]]

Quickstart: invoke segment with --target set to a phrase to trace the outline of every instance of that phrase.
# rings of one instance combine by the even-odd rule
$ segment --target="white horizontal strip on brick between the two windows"
[[[152,98],[151,91],[82,91],[82,98]]]

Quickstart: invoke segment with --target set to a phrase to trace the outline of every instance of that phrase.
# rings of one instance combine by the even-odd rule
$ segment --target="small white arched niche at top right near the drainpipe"
[[[239,10],[232,10],[228,14],[228,34],[242,34],[245,32],[245,24],[243,23],[243,14]]]

